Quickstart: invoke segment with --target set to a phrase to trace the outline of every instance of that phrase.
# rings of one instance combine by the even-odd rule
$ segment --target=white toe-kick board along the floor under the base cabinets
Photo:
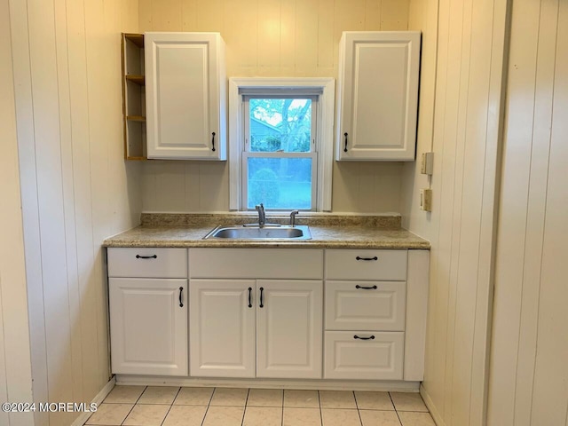
[[[383,390],[418,392],[420,382],[378,380],[290,380],[290,379],[223,379],[217,377],[152,377],[116,375],[116,384],[152,386],[203,386],[218,388],[264,388],[300,390]]]

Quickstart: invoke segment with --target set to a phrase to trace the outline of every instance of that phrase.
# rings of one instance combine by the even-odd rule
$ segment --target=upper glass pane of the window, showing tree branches
[[[309,153],[312,99],[249,99],[251,152]]]

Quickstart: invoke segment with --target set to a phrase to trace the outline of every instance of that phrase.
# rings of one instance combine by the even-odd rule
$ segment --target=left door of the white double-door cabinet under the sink
[[[255,280],[190,280],[190,373],[255,376]]]

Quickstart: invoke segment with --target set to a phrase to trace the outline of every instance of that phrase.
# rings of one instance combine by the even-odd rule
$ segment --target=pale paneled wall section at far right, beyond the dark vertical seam
[[[568,425],[568,3],[511,15],[489,426]]]

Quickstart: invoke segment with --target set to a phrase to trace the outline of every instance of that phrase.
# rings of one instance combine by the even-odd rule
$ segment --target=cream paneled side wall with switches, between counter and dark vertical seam
[[[430,82],[422,86],[420,118],[426,122],[419,131],[419,150],[428,147],[431,134],[434,175],[426,182],[408,166],[404,186],[416,193],[417,185],[431,184],[433,191],[431,214],[412,200],[403,210],[408,229],[429,238],[432,246],[421,391],[438,425],[481,426],[507,1],[412,0],[410,8],[411,17],[421,16],[414,8],[426,11],[422,20],[412,20],[425,29],[425,48],[432,49],[432,37],[438,38],[435,91],[432,96]],[[432,65],[427,65],[422,79],[431,80]]]

